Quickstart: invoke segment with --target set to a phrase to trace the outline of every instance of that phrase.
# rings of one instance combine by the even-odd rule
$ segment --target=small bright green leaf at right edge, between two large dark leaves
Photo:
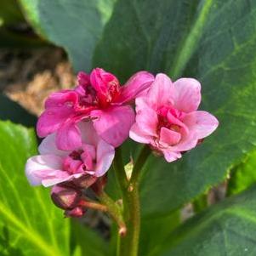
[[[256,183],[256,151],[247,156],[247,159],[237,165],[230,172],[227,195],[238,194]]]

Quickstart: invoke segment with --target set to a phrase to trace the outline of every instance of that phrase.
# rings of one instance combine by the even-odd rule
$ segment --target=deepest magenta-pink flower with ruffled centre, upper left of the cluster
[[[101,139],[115,147],[121,145],[134,123],[134,110],[128,103],[149,88],[154,77],[139,71],[121,87],[117,77],[96,68],[90,75],[80,72],[77,78],[77,88],[48,97],[37,122],[38,136],[56,131],[58,148],[72,150],[82,145],[77,122],[92,119]]]

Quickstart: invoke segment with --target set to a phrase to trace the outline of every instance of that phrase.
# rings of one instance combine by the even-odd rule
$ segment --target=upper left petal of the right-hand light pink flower
[[[146,100],[155,110],[163,105],[173,105],[174,84],[165,74],[157,74],[155,81],[151,84]]]

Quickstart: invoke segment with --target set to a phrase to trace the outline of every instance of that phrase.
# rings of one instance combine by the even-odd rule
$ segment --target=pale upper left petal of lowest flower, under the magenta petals
[[[56,156],[66,156],[67,151],[60,151],[56,147],[56,134],[50,134],[43,139],[38,147],[38,151],[41,155],[56,155]]]

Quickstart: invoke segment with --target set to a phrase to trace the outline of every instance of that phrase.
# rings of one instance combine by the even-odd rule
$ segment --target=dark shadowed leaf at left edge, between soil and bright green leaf
[[[3,94],[0,94],[0,110],[0,119],[2,120],[10,120],[27,127],[34,127],[37,123],[37,117]]]

